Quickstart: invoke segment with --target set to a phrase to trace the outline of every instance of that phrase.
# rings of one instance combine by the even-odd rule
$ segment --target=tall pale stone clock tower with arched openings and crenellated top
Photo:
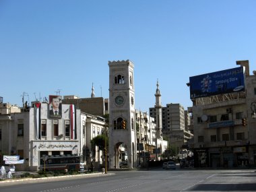
[[[136,123],[133,63],[108,61],[109,66],[109,167],[136,162]],[[125,159],[124,159],[125,158]]]

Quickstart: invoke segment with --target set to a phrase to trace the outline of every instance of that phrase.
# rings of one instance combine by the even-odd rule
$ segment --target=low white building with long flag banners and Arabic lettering
[[[102,162],[102,152],[92,148],[90,140],[105,131],[104,119],[81,113],[73,104],[61,104],[59,115],[50,110],[51,103],[34,102],[21,113],[0,115],[1,154],[24,159],[16,170],[38,170],[44,155]]]

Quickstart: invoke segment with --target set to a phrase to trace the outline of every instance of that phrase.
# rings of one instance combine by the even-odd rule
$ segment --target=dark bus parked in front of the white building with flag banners
[[[84,171],[84,163],[81,156],[76,154],[42,156],[40,158],[40,170],[77,170]]]

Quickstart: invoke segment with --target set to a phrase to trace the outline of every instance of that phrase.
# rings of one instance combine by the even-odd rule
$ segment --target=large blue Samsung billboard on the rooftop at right
[[[189,77],[190,98],[245,91],[244,67]]]

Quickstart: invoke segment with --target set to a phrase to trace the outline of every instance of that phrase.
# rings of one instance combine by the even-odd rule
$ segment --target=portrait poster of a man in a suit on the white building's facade
[[[62,110],[61,110],[61,96],[49,96],[49,117],[53,118],[61,118]]]

